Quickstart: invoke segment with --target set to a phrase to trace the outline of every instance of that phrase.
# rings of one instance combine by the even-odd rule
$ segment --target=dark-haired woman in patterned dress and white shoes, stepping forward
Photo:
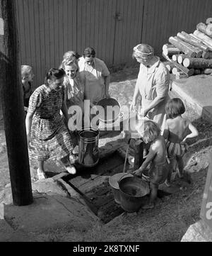
[[[73,143],[66,128],[68,111],[64,101],[64,75],[63,69],[49,69],[45,84],[35,89],[30,96],[25,126],[29,156],[39,164],[39,179],[45,178],[44,162],[49,158],[61,160],[69,173],[76,173],[69,161]],[[65,121],[61,118],[60,110]]]

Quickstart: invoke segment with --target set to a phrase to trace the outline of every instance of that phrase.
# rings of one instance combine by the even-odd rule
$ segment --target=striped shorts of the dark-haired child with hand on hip
[[[167,141],[167,157],[182,157],[188,151],[188,148],[187,143],[170,143],[170,141]]]

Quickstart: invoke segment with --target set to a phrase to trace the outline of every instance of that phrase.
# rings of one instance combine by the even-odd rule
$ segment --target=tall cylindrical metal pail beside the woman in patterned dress
[[[99,130],[92,128],[79,131],[78,159],[84,167],[93,167],[99,162]]]

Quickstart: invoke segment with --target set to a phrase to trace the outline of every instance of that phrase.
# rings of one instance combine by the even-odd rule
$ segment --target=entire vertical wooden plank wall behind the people
[[[161,55],[179,31],[192,33],[211,16],[211,0],[16,0],[20,60],[32,65],[34,87],[64,52],[92,46],[108,66],[131,65],[134,45]]]

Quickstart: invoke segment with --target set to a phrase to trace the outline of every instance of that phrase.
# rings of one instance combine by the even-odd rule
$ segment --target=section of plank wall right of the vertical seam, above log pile
[[[211,0],[144,0],[141,41],[160,56],[171,35],[182,30],[193,33],[196,24],[208,17],[212,17]]]

